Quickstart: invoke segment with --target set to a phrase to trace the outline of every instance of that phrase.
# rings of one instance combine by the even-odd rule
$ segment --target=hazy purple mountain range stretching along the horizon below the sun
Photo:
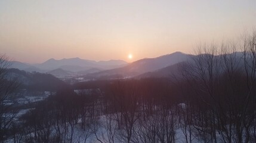
[[[238,58],[242,52],[232,53]],[[12,61],[12,67],[25,71],[39,71],[50,73],[56,77],[76,76],[85,80],[92,79],[116,79],[116,78],[145,78],[145,77],[170,77],[179,74],[179,65],[185,61],[191,61],[196,55],[174,52],[156,58],[143,58],[127,63],[122,60],[92,61],[81,58],[63,58],[62,60],[50,60],[41,64],[27,64]],[[219,55],[215,56],[220,58]]]

